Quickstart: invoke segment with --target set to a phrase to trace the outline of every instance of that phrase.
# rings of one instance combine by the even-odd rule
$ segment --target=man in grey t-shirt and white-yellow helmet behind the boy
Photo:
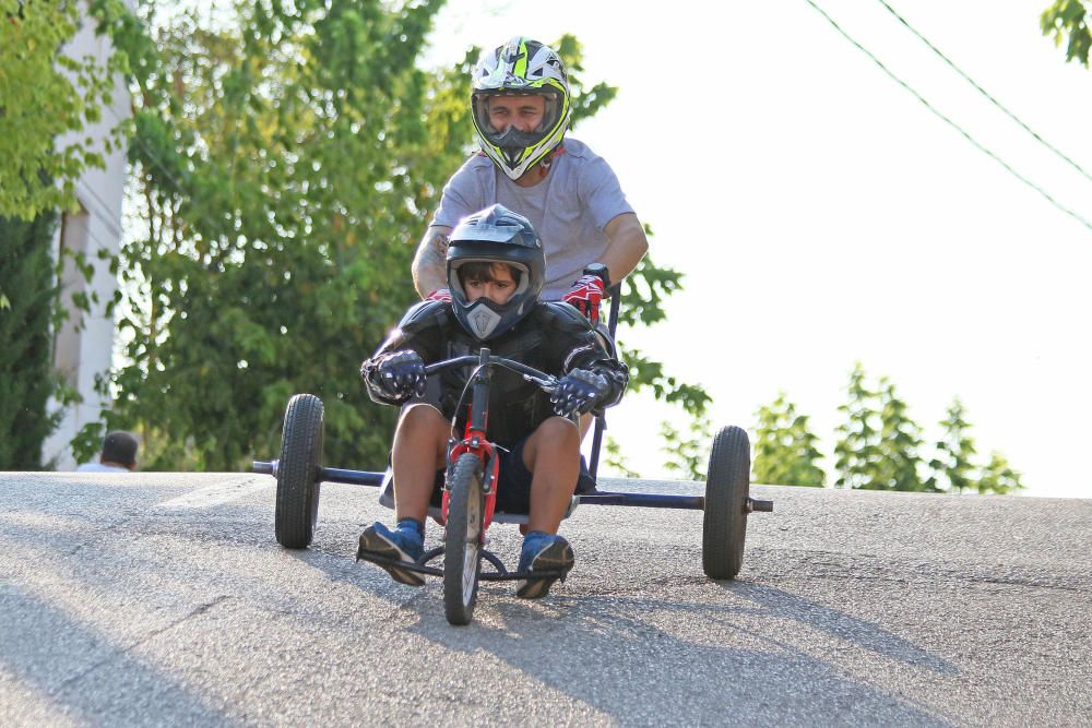
[[[649,241],[610,166],[582,142],[563,139],[570,93],[561,59],[537,40],[512,38],[483,55],[472,107],[482,152],[443,188],[413,262],[417,293],[450,300],[448,236],[463,217],[500,203],[525,215],[542,237],[543,299],[572,303],[596,322],[605,290],[637,267]]]

